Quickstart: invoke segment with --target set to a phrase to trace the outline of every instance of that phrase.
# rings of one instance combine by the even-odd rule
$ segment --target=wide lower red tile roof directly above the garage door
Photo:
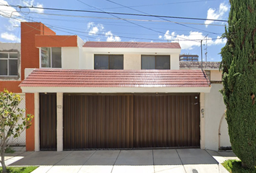
[[[200,70],[35,69],[20,86],[209,87]]]

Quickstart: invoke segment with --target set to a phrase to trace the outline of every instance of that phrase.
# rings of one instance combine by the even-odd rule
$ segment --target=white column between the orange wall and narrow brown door
[[[35,98],[35,151],[40,151],[40,134],[39,134],[39,93],[36,92],[34,94],[34,98]]]

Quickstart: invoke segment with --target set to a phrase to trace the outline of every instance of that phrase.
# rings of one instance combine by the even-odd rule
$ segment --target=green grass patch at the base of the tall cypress
[[[227,160],[222,165],[231,173],[256,173],[256,167],[254,169],[243,168],[242,161]]]

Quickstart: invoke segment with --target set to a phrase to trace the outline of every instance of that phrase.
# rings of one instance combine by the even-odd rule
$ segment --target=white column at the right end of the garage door
[[[200,148],[205,149],[205,93],[200,93]]]

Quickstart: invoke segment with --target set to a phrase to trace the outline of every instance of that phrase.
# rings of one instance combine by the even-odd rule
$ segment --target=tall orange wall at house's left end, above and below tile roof
[[[25,68],[39,68],[39,49],[35,47],[35,35],[56,35],[56,33],[40,22],[21,22],[21,80],[25,78]],[[12,87],[17,89],[19,84]],[[12,89],[12,87],[8,86],[7,89]],[[34,94],[26,93],[26,114],[35,115]],[[26,130],[26,149],[35,151],[34,120],[30,128]]]

